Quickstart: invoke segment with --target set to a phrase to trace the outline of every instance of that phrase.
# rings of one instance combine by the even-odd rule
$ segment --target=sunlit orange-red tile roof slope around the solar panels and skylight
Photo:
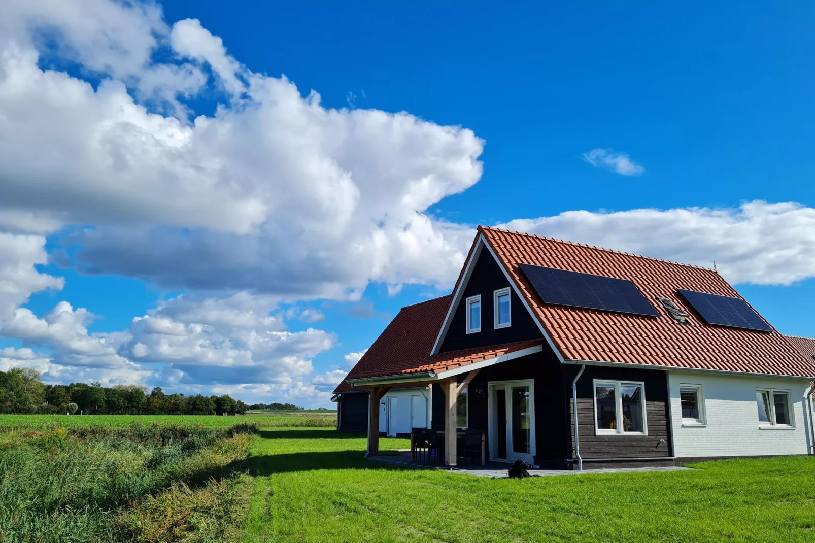
[[[496,228],[478,231],[567,360],[815,377],[815,360],[774,329],[767,333],[726,328],[698,319],[676,289],[741,298],[714,270]],[[546,305],[518,263],[631,280],[662,316]],[[691,324],[677,324],[654,302],[657,296],[685,309]]]

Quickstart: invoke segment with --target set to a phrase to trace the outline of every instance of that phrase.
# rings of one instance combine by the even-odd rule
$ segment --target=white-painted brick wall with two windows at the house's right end
[[[811,413],[806,413],[804,399],[808,382],[687,372],[669,372],[668,382],[676,457],[752,457],[811,451]],[[704,426],[682,423],[681,384],[703,386]],[[760,388],[790,392],[794,428],[759,426],[756,389]]]

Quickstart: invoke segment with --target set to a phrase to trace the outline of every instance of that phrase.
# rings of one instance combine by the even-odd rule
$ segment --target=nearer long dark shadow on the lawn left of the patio
[[[395,454],[395,453],[394,453]],[[388,456],[387,452],[381,456]],[[314,470],[412,470],[416,468],[394,466],[370,461],[363,451],[332,451],[329,453],[287,453],[251,457],[251,475],[271,475],[293,471]]]

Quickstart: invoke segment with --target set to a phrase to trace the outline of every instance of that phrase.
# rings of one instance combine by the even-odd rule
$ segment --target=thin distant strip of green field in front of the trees
[[[302,412],[301,412],[302,413]],[[325,413],[325,412],[322,412]],[[253,422],[260,428],[308,426],[331,428],[337,425],[337,413],[249,413],[242,417],[215,415],[0,415],[0,427],[76,428],[78,426],[120,427],[132,424],[171,424],[225,428],[240,422]]]

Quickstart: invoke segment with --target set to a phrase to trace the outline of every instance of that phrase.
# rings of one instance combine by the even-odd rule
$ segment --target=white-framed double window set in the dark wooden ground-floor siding
[[[647,435],[645,384],[594,380],[596,435]]]

